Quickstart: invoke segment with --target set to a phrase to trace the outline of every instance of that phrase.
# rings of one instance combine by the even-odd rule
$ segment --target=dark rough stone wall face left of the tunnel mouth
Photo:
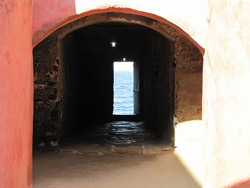
[[[58,141],[58,47],[50,35],[33,50],[34,57],[34,149],[56,148]]]

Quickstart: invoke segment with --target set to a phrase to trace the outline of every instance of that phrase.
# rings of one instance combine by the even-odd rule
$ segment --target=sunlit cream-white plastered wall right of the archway
[[[208,8],[204,187],[250,187],[250,2],[209,1]]]

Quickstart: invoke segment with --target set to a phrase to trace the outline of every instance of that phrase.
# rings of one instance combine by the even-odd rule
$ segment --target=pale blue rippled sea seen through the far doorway
[[[133,71],[114,71],[115,115],[134,114]]]

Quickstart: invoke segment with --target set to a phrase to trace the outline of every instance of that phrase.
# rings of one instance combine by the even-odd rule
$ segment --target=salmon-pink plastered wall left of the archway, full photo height
[[[31,187],[32,1],[0,2],[0,187]]]

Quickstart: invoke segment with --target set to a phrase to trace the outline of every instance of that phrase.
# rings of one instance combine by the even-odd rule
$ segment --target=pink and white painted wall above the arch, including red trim
[[[179,3],[186,4],[184,0],[180,1],[181,2]],[[159,1],[159,4],[157,5],[158,9],[156,10],[153,9],[152,5],[150,6],[150,4],[156,4],[153,1],[149,1],[147,6],[145,6],[145,3],[142,1],[137,2],[136,5],[129,1],[121,2],[119,4],[118,1],[116,3],[110,3],[110,1],[95,1],[94,3],[90,3],[87,0],[83,0],[81,3],[75,3],[74,0],[35,1],[33,44],[35,46],[59,27],[62,27],[63,25],[66,25],[67,23],[75,21],[81,17],[105,12],[121,12],[149,17],[174,27],[175,29],[182,32],[187,38],[192,40],[192,42],[195,43],[195,45],[204,54],[204,48],[202,47],[202,39],[204,38],[202,36],[204,32],[201,31],[201,29],[204,27],[201,26],[203,24],[201,20],[205,20],[205,16],[203,15],[205,14],[205,11],[202,11],[202,15],[196,15],[199,13],[199,11],[201,11],[201,9],[203,9],[203,3],[200,1],[198,3],[196,0],[194,0],[192,3],[188,3],[188,7],[185,8],[180,7],[179,4],[173,3],[172,1]],[[161,10],[159,7],[166,7],[166,9],[171,9],[171,11]],[[197,10],[195,11],[194,9]],[[173,12],[172,10],[178,11]],[[193,11],[193,14],[190,14],[190,11]],[[177,14],[177,12],[182,12],[182,17],[180,17],[180,14]],[[188,16],[183,16],[185,14]],[[193,23],[194,20],[195,24]]]

